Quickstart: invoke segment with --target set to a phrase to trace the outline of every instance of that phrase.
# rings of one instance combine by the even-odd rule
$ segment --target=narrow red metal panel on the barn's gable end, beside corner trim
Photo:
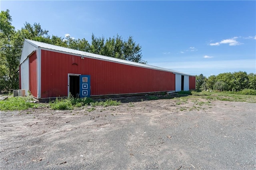
[[[37,97],[37,57],[33,53],[29,57],[29,90],[30,93]]]

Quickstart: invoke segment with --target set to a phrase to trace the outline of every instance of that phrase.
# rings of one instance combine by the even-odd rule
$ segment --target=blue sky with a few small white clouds
[[[1,1],[12,25],[50,36],[133,36],[149,65],[191,75],[256,73],[256,1]]]

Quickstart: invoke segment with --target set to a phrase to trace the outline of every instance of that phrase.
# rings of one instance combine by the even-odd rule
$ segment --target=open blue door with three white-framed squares
[[[80,98],[90,97],[90,75],[80,75]]]

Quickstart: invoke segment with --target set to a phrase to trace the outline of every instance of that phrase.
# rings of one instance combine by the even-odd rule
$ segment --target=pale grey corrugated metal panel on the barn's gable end
[[[29,90],[29,59],[27,58],[21,65],[20,65],[20,84],[21,89],[25,89],[25,95],[28,95]]]

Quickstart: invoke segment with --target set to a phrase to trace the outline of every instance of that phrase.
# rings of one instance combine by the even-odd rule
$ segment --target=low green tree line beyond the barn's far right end
[[[256,74],[245,71],[234,73],[220,73],[208,78],[203,74],[196,75],[196,90],[242,91],[244,89],[256,90]]]

